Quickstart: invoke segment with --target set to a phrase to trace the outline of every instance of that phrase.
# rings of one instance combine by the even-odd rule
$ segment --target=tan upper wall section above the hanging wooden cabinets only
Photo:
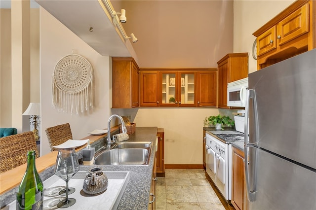
[[[140,68],[216,68],[233,51],[233,1],[123,0]],[[118,4],[119,3],[119,4]]]

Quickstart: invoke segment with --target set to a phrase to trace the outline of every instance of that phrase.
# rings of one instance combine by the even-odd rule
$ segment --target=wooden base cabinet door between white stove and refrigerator
[[[233,146],[232,205],[236,210],[247,209],[247,193],[244,176],[244,152]]]

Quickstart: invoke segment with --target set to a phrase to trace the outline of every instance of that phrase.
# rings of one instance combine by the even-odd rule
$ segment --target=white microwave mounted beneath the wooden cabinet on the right
[[[245,107],[248,77],[227,84],[227,106]]]

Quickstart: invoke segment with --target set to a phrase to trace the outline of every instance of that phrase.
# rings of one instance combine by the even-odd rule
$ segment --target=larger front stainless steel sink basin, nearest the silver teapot
[[[95,165],[148,165],[150,149],[120,148],[104,150],[94,159]]]

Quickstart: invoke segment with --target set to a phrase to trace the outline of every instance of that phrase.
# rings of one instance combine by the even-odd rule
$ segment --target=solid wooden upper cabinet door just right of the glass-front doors
[[[197,106],[217,105],[217,70],[197,72]]]

